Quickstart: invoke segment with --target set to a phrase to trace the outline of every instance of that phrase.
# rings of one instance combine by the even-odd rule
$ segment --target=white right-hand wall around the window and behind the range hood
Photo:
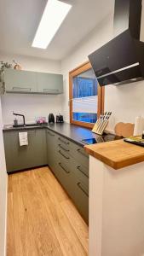
[[[144,0],[143,0],[144,2]],[[142,27],[144,26],[144,9],[142,12]],[[144,29],[141,27],[141,40],[144,41]],[[106,44],[113,37],[113,14],[107,16],[105,20],[91,32],[81,44],[78,45],[71,55],[61,62],[61,70],[64,74],[65,95],[63,96],[64,118],[69,120],[69,82],[68,73],[78,67],[84,61],[88,61],[88,55],[95,49]],[[135,116],[144,115],[144,81],[124,84],[120,86],[107,85],[105,87],[105,110],[112,111],[109,130],[113,130],[114,125],[119,121],[135,122]]]

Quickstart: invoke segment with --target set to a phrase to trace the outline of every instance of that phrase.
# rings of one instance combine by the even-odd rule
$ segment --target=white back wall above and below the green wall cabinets
[[[0,60],[13,60],[20,63],[22,69],[37,72],[61,73],[60,61],[49,61],[20,55],[4,55]],[[34,121],[37,116],[48,116],[49,113],[61,113],[61,96],[7,94],[2,96],[3,123],[10,124],[14,120],[12,112],[26,115],[26,122]]]

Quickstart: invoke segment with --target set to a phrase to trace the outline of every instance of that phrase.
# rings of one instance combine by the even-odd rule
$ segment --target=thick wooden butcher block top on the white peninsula
[[[84,149],[116,170],[144,161],[144,148],[124,143],[123,140],[88,145]]]

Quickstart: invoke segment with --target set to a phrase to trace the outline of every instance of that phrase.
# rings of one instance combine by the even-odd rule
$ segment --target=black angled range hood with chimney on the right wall
[[[144,43],[140,41],[141,0],[116,0],[114,32],[110,42],[89,55],[101,86],[144,79]]]

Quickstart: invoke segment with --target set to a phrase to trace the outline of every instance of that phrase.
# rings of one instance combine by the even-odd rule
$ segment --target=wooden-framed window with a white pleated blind
[[[103,113],[104,87],[99,86],[89,62],[70,72],[69,79],[70,122],[93,127]]]

